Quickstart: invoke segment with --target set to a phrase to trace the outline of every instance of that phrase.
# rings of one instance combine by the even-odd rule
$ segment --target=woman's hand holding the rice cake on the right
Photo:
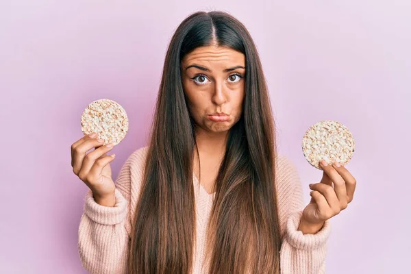
[[[325,161],[323,161],[325,162]],[[303,210],[301,223],[322,226],[327,220],[345,210],[351,203],[356,190],[356,179],[344,166],[327,165],[323,169],[321,182],[310,184],[311,201]],[[334,187],[333,187],[334,183]]]

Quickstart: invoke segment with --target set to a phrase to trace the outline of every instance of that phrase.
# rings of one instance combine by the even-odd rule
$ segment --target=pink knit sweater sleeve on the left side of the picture
[[[136,153],[121,167],[116,179],[114,207],[95,202],[91,190],[84,199],[84,213],[78,229],[78,251],[88,273],[125,273],[129,251],[129,221],[132,175]],[[134,177],[134,176],[133,176]]]

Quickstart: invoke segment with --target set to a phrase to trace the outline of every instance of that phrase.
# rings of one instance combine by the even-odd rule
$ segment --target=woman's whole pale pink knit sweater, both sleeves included
[[[89,273],[125,273],[131,216],[136,209],[142,172],[148,147],[137,149],[125,161],[116,179],[116,204],[101,206],[88,190],[84,214],[79,223],[79,257]],[[316,234],[305,234],[298,229],[303,204],[303,191],[297,169],[283,155],[277,159],[277,195],[282,234],[280,268],[282,274],[325,273],[327,238],[331,232],[329,221]],[[204,258],[205,228],[214,194],[210,195],[193,174],[197,208],[197,245],[193,262],[194,274],[206,273],[201,269]]]

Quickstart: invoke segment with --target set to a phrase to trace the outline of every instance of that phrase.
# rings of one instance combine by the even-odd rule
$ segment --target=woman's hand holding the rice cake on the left
[[[110,162],[112,155],[107,155],[114,146],[107,147],[95,136],[86,135],[71,145],[71,166],[77,175],[92,191],[95,201],[103,206],[114,206],[116,189]],[[92,148],[94,151],[87,153]]]

